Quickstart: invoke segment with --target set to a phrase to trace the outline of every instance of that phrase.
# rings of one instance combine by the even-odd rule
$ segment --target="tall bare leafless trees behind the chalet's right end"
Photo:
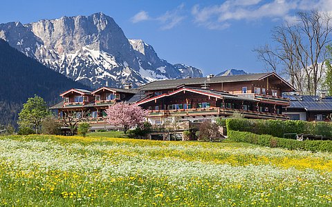
[[[288,76],[304,95],[316,95],[324,77],[326,46],[331,41],[332,17],[328,12],[298,12],[295,22],[286,22],[272,31],[275,48],[255,48],[266,69]]]

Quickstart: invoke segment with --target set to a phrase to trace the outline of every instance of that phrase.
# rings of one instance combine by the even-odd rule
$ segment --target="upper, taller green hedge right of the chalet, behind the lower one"
[[[284,137],[286,133],[323,135],[332,137],[332,124],[328,122],[309,122],[269,119],[226,119],[227,130],[252,132],[257,135]]]

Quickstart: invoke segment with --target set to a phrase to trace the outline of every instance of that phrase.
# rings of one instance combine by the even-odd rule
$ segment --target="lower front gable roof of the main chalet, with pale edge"
[[[171,97],[172,95],[177,94],[178,92],[182,91],[188,91],[188,92],[194,92],[198,93],[201,95],[206,95],[210,97],[215,97],[217,99],[235,99],[235,100],[242,100],[242,101],[258,101],[256,99],[250,99],[249,97],[242,97],[242,96],[237,96],[237,95],[231,95],[228,92],[222,92],[222,91],[216,91],[216,90],[209,90],[209,89],[202,89],[202,88],[191,88],[191,87],[186,87],[186,88],[180,88],[174,92],[170,93],[165,93],[162,95],[158,95],[156,97],[151,97],[149,99],[142,99],[141,101],[138,101],[138,105],[142,103],[147,103],[149,101],[154,101],[155,99],[160,99],[162,97]]]

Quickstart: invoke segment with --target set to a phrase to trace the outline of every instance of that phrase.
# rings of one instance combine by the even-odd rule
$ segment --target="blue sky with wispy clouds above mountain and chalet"
[[[332,8],[332,0],[31,0],[1,1],[0,23],[30,23],[103,12],[129,39],[142,39],[169,63],[185,63],[204,75],[237,69],[264,72],[254,48],[273,44],[271,30],[294,21],[299,10]]]

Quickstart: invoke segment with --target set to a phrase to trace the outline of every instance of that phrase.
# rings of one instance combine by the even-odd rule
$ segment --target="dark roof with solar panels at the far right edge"
[[[332,97],[321,99],[319,96],[293,96],[284,95],[290,99],[290,106],[288,108],[302,108],[307,111],[331,111],[332,112]]]

